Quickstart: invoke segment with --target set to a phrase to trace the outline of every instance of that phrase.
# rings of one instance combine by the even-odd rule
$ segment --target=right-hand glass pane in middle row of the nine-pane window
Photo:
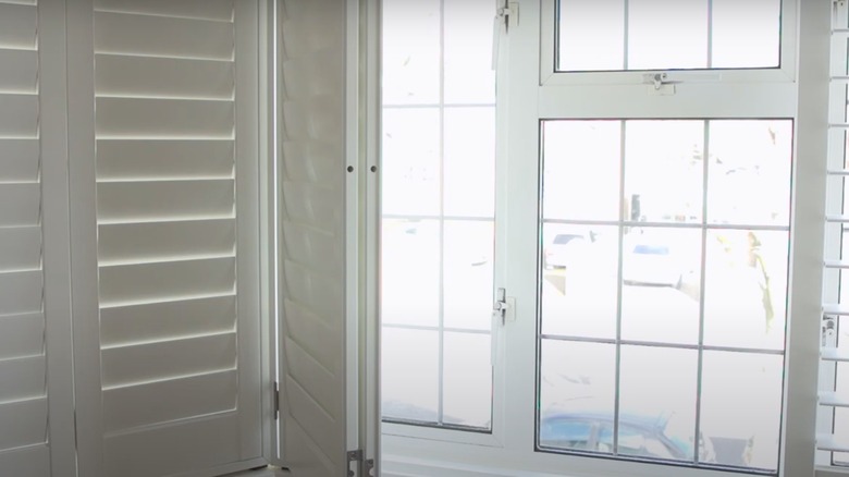
[[[705,344],[784,350],[789,243],[787,232],[707,232]]]

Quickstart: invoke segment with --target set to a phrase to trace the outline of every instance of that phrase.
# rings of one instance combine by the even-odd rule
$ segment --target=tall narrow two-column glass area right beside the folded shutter
[[[383,2],[382,414],[492,426],[491,0]]]

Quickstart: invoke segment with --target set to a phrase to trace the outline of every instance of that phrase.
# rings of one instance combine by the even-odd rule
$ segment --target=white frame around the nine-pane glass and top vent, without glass
[[[509,250],[537,249],[538,198],[522,192],[539,181],[539,121],[541,119],[792,119],[793,191],[790,232],[791,294],[788,303],[785,352],[785,408],[778,475],[814,475],[815,393],[819,364],[822,279],[823,185],[825,183],[827,58],[832,1],[785,0],[783,3],[782,68],[772,70],[676,71],[675,95],[652,95],[641,72],[555,73],[555,0],[509,2],[513,19],[508,37],[502,37],[500,68],[508,68],[508,88],[500,88],[497,152],[500,191],[496,217],[510,210],[509,228],[496,220],[496,257]],[[518,9],[518,12],[515,10]],[[545,13],[543,13],[545,12]],[[516,23],[517,22],[517,23]],[[540,44],[544,45],[540,49]],[[546,48],[551,47],[551,51]],[[508,66],[506,65],[508,63]],[[605,81],[601,76],[606,76]],[[701,81],[700,81],[701,80]],[[500,84],[504,84],[501,83]],[[512,94],[521,85],[524,94]],[[777,98],[780,98],[777,99]],[[629,100],[627,108],[622,105]],[[745,99],[746,103],[741,102]],[[532,231],[528,233],[527,231]],[[533,254],[530,254],[533,255]],[[510,277],[514,277],[510,280]],[[522,259],[510,273],[496,266],[495,286],[508,295],[536,295],[536,256]],[[796,284],[796,286],[792,286]],[[515,379],[536,369],[536,299],[519,298],[516,322],[499,330],[499,353],[510,354],[497,372]],[[811,319],[817,317],[817,319]],[[517,354],[514,354],[517,353]],[[730,477],[739,472],[687,468],[608,458],[537,453],[533,449],[536,376],[510,382],[513,390],[495,408],[493,432],[509,426],[503,447],[463,445],[457,442],[387,436],[383,440],[382,475],[444,476],[568,476],[593,477]],[[509,409],[505,416],[505,411]],[[499,415],[501,413],[501,416]],[[499,420],[499,419],[503,420]],[[791,431],[788,431],[790,429]],[[568,469],[568,470],[565,470]],[[817,474],[825,477],[826,474]]]

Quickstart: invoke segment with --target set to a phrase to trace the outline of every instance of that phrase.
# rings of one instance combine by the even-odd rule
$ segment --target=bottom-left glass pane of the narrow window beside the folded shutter
[[[381,399],[384,418],[439,421],[439,333],[383,328]]]

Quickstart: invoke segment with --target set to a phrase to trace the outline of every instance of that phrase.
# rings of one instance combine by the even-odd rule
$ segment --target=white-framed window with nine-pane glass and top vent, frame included
[[[499,7],[503,401],[384,470],[812,474],[832,2]]]

